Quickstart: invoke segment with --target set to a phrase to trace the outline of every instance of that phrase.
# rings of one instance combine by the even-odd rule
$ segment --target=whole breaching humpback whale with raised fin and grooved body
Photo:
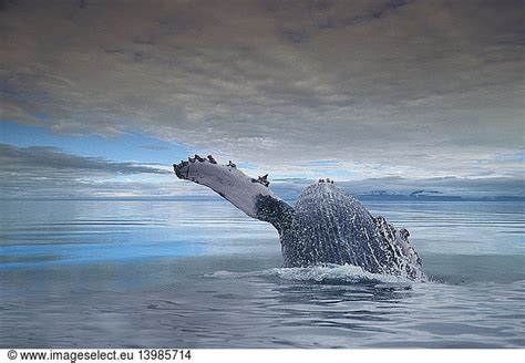
[[[271,224],[285,268],[353,265],[373,273],[424,279],[409,231],[373,217],[333,180],[308,186],[292,207],[269,189],[268,175],[251,178],[231,162],[219,165],[210,156],[195,155],[173,167],[178,178],[204,185],[249,217]]]

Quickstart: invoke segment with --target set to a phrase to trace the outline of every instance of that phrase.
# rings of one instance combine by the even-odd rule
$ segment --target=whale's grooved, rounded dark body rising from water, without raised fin
[[[332,184],[306,188],[280,236],[285,267],[349,263],[374,273],[421,277],[399,247],[395,228]]]

